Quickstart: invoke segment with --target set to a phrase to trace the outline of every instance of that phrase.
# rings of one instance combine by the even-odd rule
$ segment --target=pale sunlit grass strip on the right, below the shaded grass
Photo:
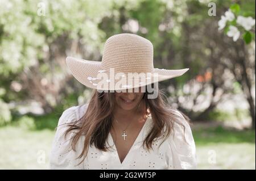
[[[196,146],[198,169],[255,169],[255,144]]]

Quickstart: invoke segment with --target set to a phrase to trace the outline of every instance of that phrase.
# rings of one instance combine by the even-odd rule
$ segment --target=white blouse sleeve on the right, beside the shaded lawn
[[[168,169],[196,169],[196,146],[191,127],[179,111],[176,113],[179,119],[174,124],[174,132],[168,137],[168,146],[171,151],[168,154]]]

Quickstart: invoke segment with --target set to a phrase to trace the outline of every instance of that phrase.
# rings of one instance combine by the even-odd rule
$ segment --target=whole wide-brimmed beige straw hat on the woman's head
[[[154,68],[152,43],[132,33],[109,37],[102,61],[67,57],[66,62],[77,81],[97,90],[133,89],[179,77],[189,70]]]

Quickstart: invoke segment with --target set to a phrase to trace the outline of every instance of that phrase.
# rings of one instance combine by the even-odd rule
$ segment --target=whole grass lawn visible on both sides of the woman
[[[31,121],[24,121],[1,127],[0,169],[48,169],[56,124],[44,129],[47,127],[43,123],[34,127]],[[198,169],[255,169],[254,131],[201,128],[195,129],[193,136]]]

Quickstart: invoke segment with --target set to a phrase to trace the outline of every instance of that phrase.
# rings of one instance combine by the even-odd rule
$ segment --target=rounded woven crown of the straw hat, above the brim
[[[132,33],[121,33],[106,40],[102,56],[104,69],[115,72],[152,72],[154,48],[152,43]]]

